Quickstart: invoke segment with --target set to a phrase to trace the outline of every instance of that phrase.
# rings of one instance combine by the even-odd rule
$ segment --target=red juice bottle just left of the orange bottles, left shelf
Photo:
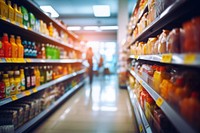
[[[6,58],[12,57],[12,45],[8,42],[8,34],[4,33],[2,37],[2,42],[4,45],[4,56]]]

